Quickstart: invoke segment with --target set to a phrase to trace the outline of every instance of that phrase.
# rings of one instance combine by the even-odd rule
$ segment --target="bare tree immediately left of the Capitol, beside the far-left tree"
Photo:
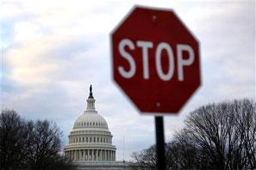
[[[26,160],[33,169],[47,169],[55,164],[61,151],[61,131],[47,120],[28,122]]]

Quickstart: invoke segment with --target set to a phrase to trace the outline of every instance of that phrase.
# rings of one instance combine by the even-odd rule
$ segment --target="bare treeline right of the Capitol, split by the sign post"
[[[165,144],[166,169],[256,169],[255,101],[201,106],[184,124]],[[155,169],[154,145],[132,157],[134,168]]]

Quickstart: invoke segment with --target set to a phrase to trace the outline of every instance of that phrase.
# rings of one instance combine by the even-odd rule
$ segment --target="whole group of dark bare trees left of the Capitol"
[[[16,111],[0,114],[0,169],[72,169],[60,154],[62,132],[47,120],[25,120]]]

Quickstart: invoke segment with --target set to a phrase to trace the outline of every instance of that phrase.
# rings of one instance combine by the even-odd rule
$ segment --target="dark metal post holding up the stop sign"
[[[159,170],[165,170],[165,134],[163,119],[164,118],[162,116],[154,117],[156,132],[157,168]]]

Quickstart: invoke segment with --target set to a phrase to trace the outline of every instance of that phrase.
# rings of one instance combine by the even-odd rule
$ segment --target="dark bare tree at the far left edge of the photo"
[[[23,163],[25,124],[13,110],[0,114],[0,169],[15,169]]]

